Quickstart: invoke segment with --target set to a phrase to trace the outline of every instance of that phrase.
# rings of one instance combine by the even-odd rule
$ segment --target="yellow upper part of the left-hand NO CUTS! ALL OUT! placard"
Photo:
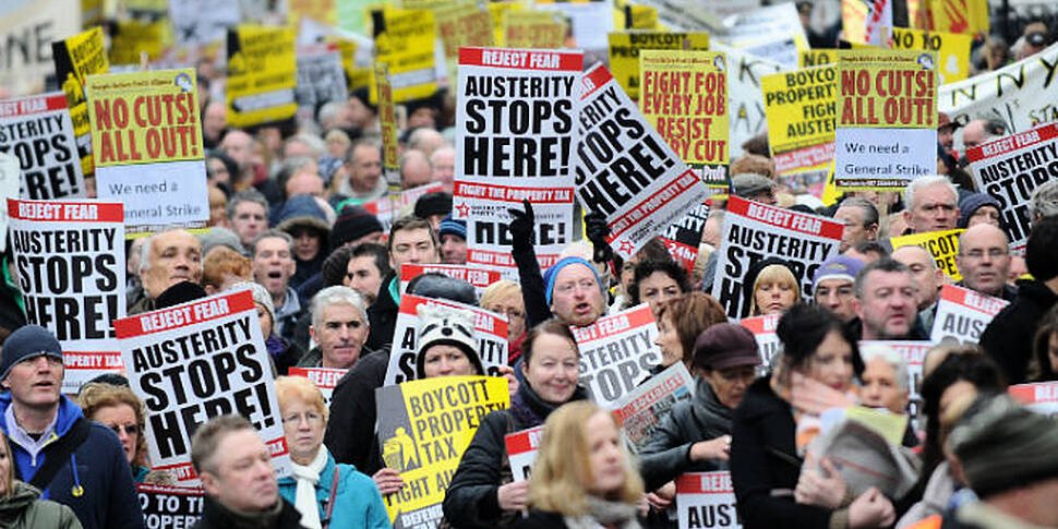
[[[193,69],[93,75],[86,88],[97,167],[203,158]]]

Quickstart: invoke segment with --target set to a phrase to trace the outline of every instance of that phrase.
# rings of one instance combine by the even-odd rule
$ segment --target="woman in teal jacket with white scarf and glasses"
[[[293,477],[279,480],[279,494],[301,513],[301,525],[305,529],[390,529],[374,481],[352,465],[335,464],[323,446],[327,407],[316,385],[301,376],[280,376],[276,394],[293,460]]]

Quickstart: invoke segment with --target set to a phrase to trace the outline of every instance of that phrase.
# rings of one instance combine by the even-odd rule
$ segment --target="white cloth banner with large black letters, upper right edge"
[[[962,124],[1000,120],[1008,134],[1058,120],[1053,98],[1056,68],[1058,44],[1013,64],[941,86],[937,110]]]

